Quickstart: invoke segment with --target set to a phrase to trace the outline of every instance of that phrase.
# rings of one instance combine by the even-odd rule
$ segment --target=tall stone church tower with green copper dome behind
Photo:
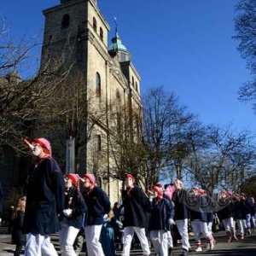
[[[122,44],[117,31],[108,46],[110,26],[98,9],[96,0],[61,0],[60,4],[44,9],[44,44],[42,63],[48,59],[49,53],[58,58],[63,50],[67,57],[67,67],[84,74],[88,90],[95,91],[99,102],[106,106],[105,119],[98,124],[84,150],[85,166],[83,170],[95,173],[99,185],[102,186],[110,201],[119,201],[122,183],[109,177],[113,166],[109,134],[113,121],[109,114],[109,106],[119,106],[130,115],[136,109],[142,112],[140,98],[141,78],[131,62],[131,54]],[[71,71],[69,74],[73,76]],[[72,86],[72,85],[71,85]],[[120,107],[121,106],[121,107]],[[132,120],[130,120],[132,123]],[[106,148],[101,151],[104,161],[94,165],[91,152],[100,152],[101,143]],[[98,147],[95,150],[95,147]],[[79,170],[79,174],[84,173]]]

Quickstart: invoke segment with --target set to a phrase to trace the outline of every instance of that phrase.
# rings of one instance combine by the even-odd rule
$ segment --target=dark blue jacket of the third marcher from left
[[[87,225],[103,224],[103,216],[111,210],[108,195],[98,186],[84,191],[84,201],[88,209]]]

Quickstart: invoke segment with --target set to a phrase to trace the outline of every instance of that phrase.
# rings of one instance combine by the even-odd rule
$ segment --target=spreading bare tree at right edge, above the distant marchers
[[[211,195],[214,189],[237,191],[253,175],[254,137],[248,131],[232,131],[231,125],[211,125],[207,131],[207,148],[188,158],[191,182],[208,189]]]

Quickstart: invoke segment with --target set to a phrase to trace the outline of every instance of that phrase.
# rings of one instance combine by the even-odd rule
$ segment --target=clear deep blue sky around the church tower
[[[130,50],[142,77],[141,90],[163,85],[174,91],[204,124],[256,130],[251,104],[237,100],[237,90],[251,79],[236,50],[237,0],[98,0],[113,37],[113,17],[119,36]],[[58,0],[2,0],[0,13],[16,38],[44,29],[42,9]]]

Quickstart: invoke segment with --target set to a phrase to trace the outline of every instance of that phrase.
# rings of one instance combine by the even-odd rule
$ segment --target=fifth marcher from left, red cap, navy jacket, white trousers
[[[172,256],[172,247],[168,247],[168,232],[174,223],[174,207],[172,201],[164,197],[163,189],[159,186],[153,187],[154,199],[150,200],[148,212],[151,213],[148,230],[150,241],[153,244],[155,253],[160,256]]]

